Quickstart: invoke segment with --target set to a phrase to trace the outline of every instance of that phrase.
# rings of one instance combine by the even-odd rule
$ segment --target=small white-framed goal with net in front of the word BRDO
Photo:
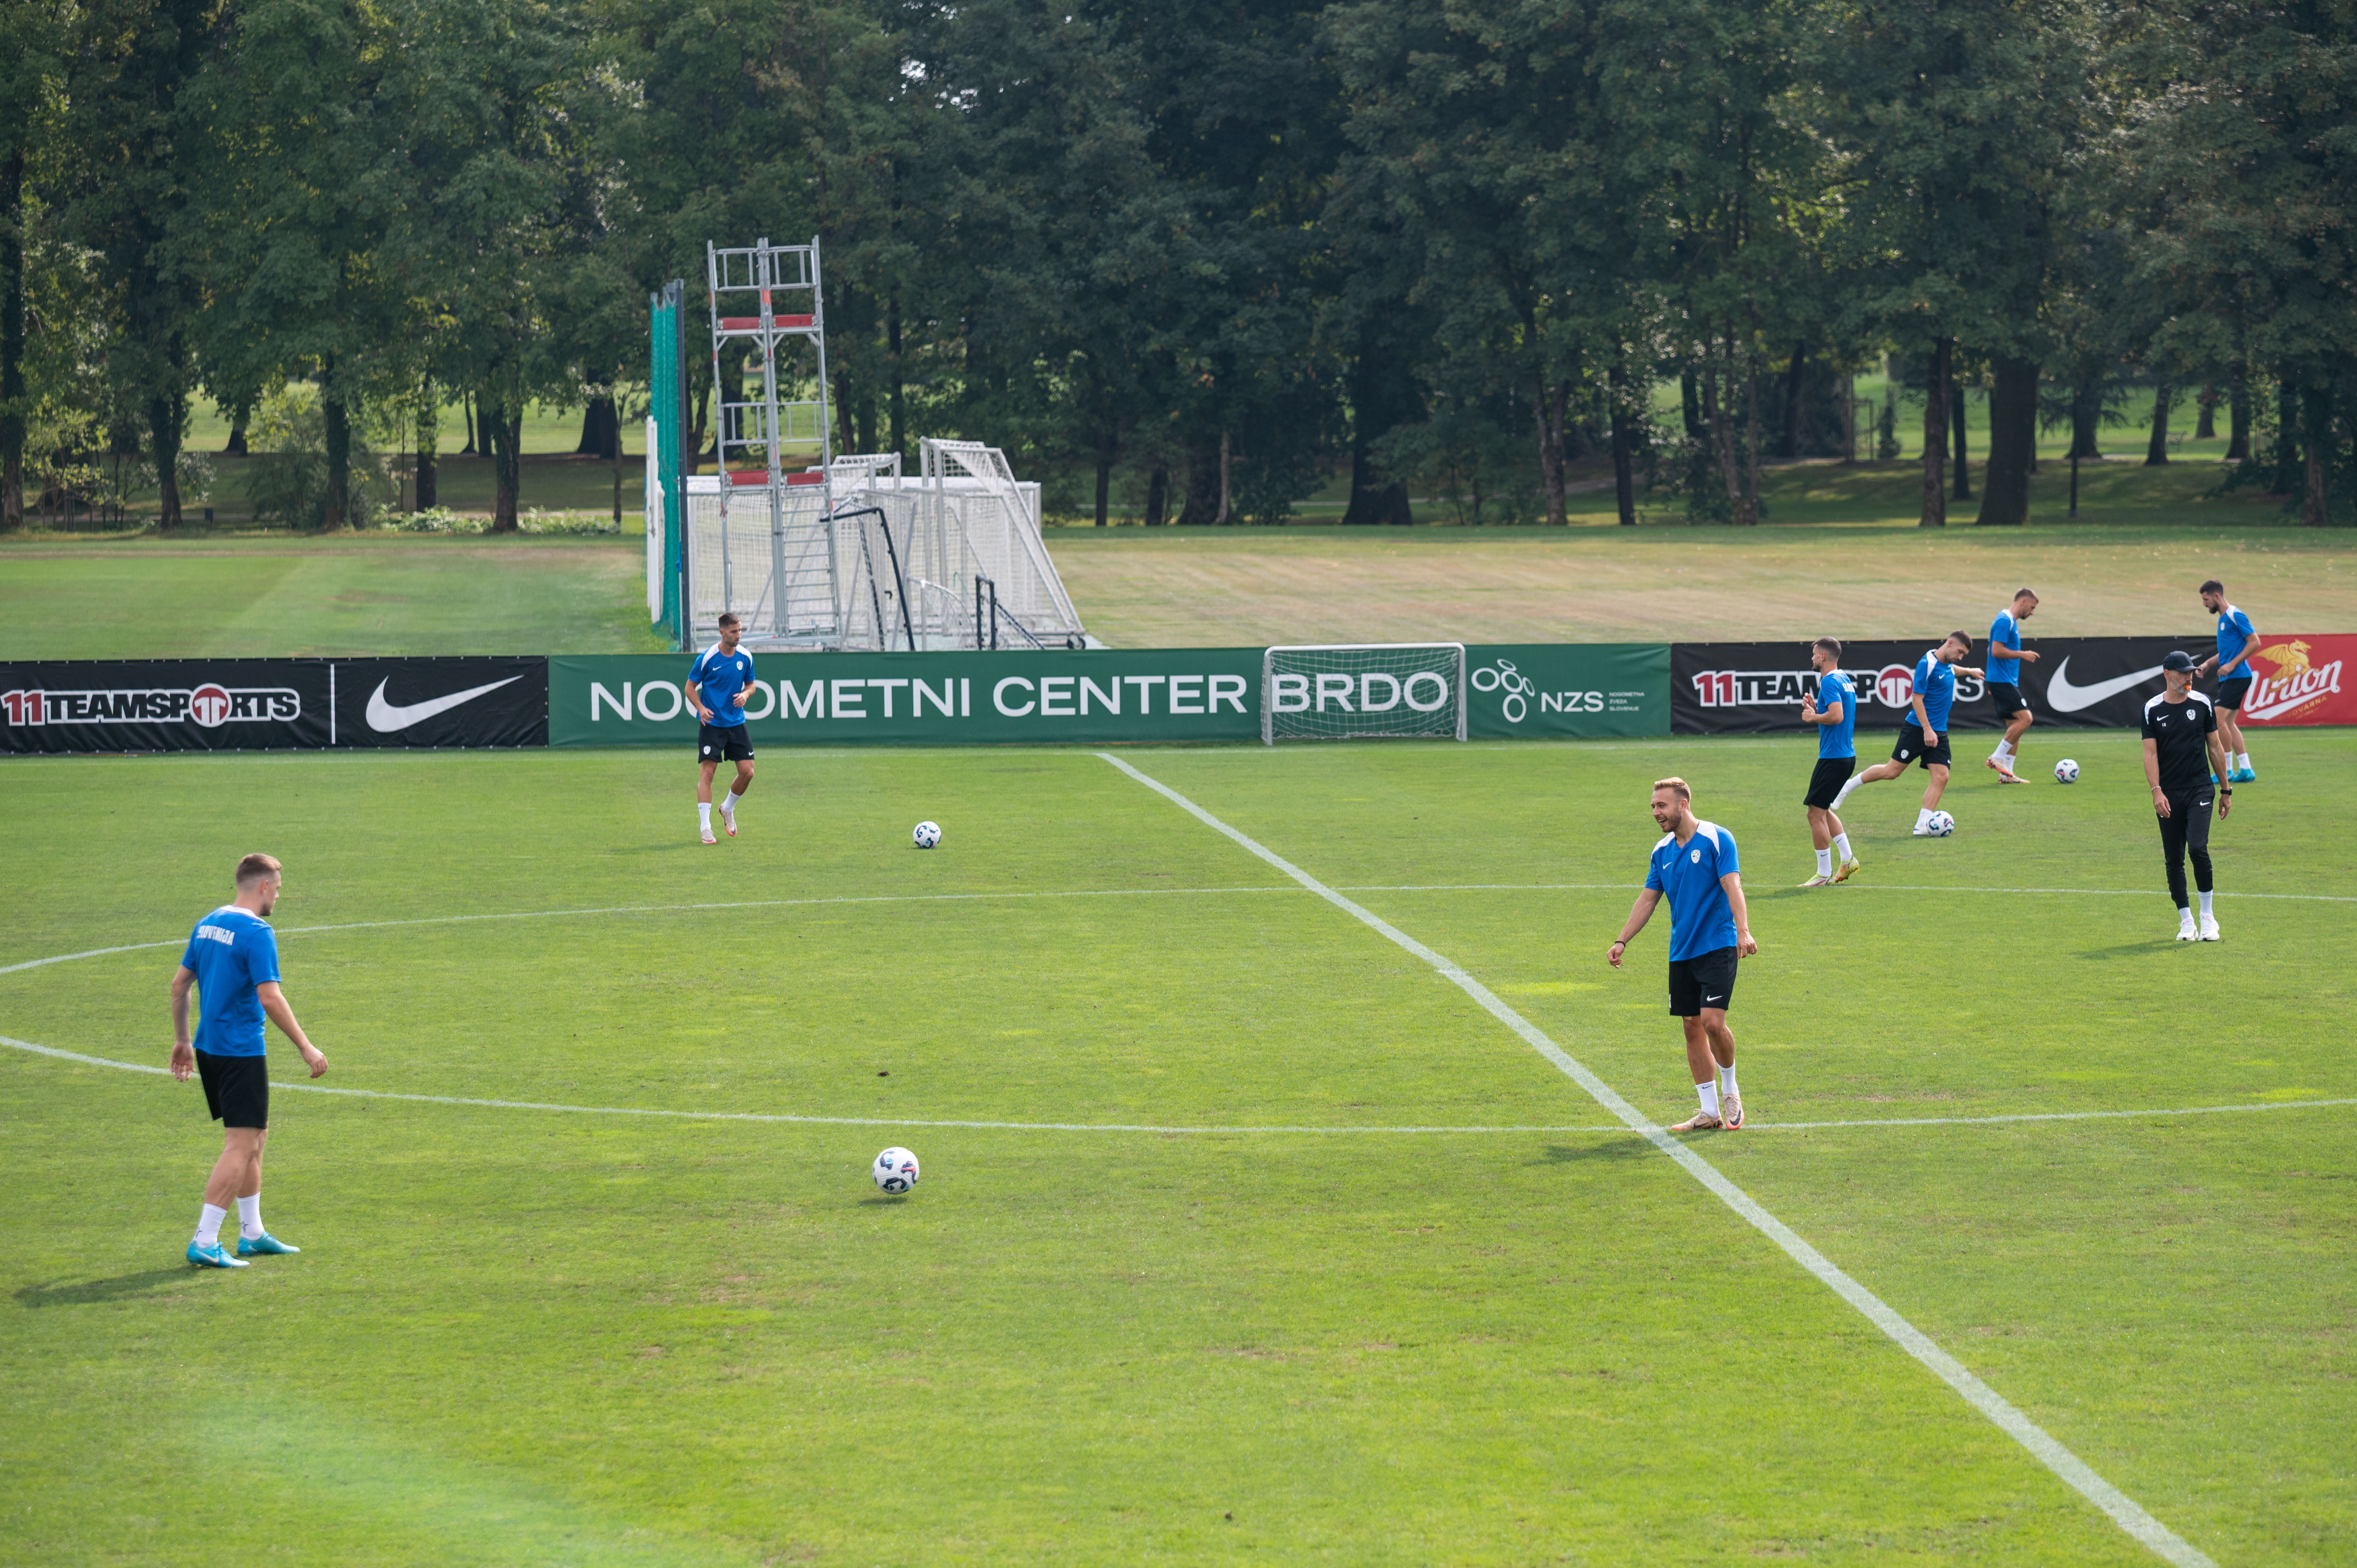
[[[1461,641],[1362,641],[1261,653],[1261,743],[1466,738]]]

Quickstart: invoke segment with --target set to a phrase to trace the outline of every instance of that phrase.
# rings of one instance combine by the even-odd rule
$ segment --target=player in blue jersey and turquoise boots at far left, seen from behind
[[[196,1073],[205,1106],[222,1122],[222,1158],[205,1179],[189,1261],[200,1269],[245,1269],[247,1257],[302,1252],[262,1228],[262,1146],[271,1139],[271,1080],[262,1059],[262,1019],[269,1016],[311,1078],[328,1059],[304,1037],[295,1009],[278,990],[278,938],[269,913],[278,903],[278,861],[238,861],[238,896],[196,922],[189,950],[172,976],[172,1078]],[[196,988],[196,1040],[189,1040],[189,988]],[[222,1221],[238,1205],[238,1257],[222,1250]]]

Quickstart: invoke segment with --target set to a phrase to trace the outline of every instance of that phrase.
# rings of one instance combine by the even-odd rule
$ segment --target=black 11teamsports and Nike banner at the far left
[[[547,740],[544,658],[0,665],[5,752],[266,752]]]

